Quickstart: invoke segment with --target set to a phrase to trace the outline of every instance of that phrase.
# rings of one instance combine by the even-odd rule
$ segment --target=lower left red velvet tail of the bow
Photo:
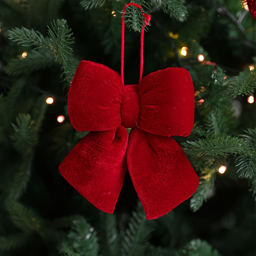
[[[60,173],[89,202],[113,213],[124,182],[127,142],[123,126],[90,132],[62,161]]]

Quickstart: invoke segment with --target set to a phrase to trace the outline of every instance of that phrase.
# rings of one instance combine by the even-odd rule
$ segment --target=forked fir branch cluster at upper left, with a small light
[[[68,28],[67,21],[62,19],[53,20],[52,28],[48,27],[48,36],[44,37],[40,32],[27,28],[13,28],[8,31],[9,39],[25,46],[36,46],[26,58],[12,59],[5,67],[5,72],[9,75],[19,75],[41,68],[51,67],[57,61],[62,64],[63,73],[67,83],[74,75],[74,64],[68,63],[71,60],[72,48],[74,43],[73,33]]]

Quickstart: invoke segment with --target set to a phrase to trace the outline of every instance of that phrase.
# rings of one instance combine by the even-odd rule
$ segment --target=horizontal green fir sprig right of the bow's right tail
[[[215,139],[199,139],[183,143],[186,154],[191,156],[228,156],[239,154],[247,149],[243,139],[223,135]]]

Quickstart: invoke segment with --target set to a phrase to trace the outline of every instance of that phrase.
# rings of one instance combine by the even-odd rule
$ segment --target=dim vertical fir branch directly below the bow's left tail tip
[[[116,217],[112,214],[100,214],[100,253],[104,256],[120,256],[120,241],[116,228]]]

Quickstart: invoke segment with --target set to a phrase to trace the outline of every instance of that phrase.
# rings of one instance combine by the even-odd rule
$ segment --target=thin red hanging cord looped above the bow
[[[139,5],[139,4],[135,4],[135,3],[129,3],[129,4],[126,4],[124,6],[124,9],[123,9],[123,15],[122,15],[122,29],[121,29],[121,79],[122,79],[122,83],[124,85],[124,15],[125,15],[125,9],[127,6],[130,6],[130,5],[134,5],[136,6],[137,8],[139,8],[142,12],[142,15],[144,14],[143,13],[143,10],[142,10],[142,7]],[[143,15],[144,16],[144,15]],[[150,15],[145,15],[145,18],[147,20],[145,20],[145,25],[147,26],[149,23],[149,20],[150,20]],[[143,39],[144,39],[144,28],[145,26],[143,26],[141,28],[141,33],[140,33],[140,80],[142,78],[142,72],[143,72]],[[140,82],[139,80],[139,82]]]

